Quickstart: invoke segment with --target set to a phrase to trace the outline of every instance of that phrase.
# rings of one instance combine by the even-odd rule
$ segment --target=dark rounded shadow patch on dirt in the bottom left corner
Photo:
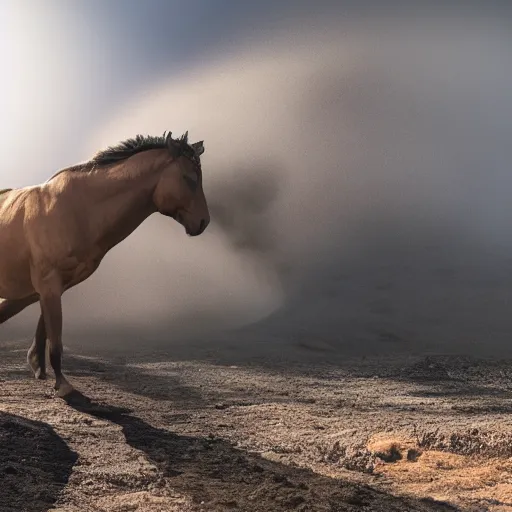
[[[0,412],[0,512],[46,512],[77,455],[46,423]]]

